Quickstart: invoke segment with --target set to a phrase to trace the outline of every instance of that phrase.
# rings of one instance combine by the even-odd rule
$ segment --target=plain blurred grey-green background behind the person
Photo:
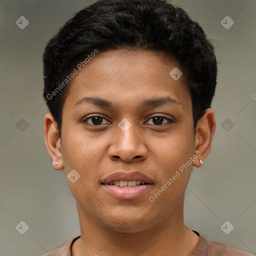
[[[57,29],[92,2],[0,1],[0,255],[41,255],[80,234],[65,173],[52,169],[43,141],[41,55]],[[217,128],[210,155],[192,171],[185,224],[255,254],[256,1],[172,2],[211,38],[219,70]],[[29,21],[24,29],[15,24],[22,15]],[[220,23],[226,15],[234,21],[229,29]],[[24,234],[15,228],[21,220],[29,226]],[[220,228],[226,220],[234,226],[229,234]]]

